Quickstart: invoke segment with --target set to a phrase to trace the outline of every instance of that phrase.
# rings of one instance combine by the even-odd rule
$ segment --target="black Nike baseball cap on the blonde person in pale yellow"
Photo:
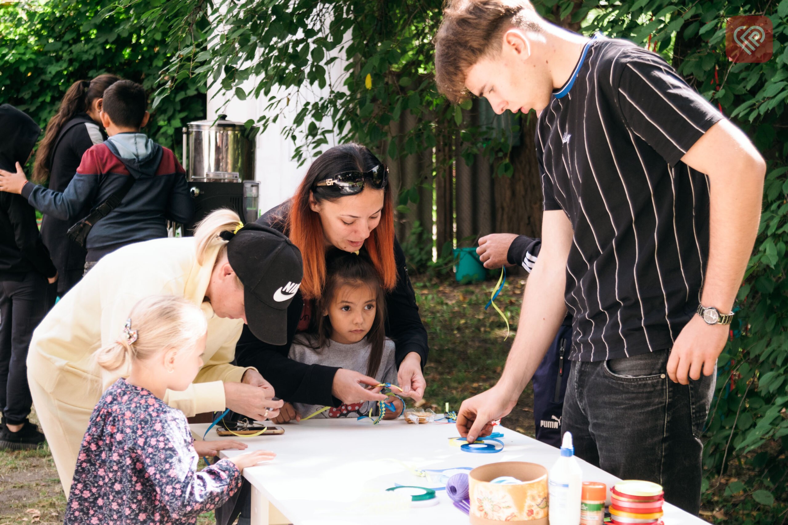
[[[227,260],[243,283],[249,330],[271,345],[288,338],[288,306],[301,286],[301,251],[273,228],[243,226],[227,243]]]

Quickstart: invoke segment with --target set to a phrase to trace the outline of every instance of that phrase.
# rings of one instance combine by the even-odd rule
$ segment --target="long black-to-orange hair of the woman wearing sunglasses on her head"
[[[368,172],[381,161],[361,144],[350,142],[325,150],[307,170],[307,176],[296,190],[287,217],[290,240],[303,255],[301,294],[306,299],[318,298],[325,283],[325,237],[318,213],[309,205],[310,195],[315,201],[337,201],[343,195],[329,187],[314,187],[315,183],[342,172]],[[381,221],[364,243],[370,261],[380,277],[385,290],[396,285],[397,272],[394,262],[394,209],[389,187],[385,188]]]

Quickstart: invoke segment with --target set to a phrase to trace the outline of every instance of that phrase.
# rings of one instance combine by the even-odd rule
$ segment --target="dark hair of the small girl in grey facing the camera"
[[[381,286],[381,279],[373,264],[364,256],[348,253],[342,250],[332,250],[327,257],[327,275],[325,287],[321,298],[315,301],[314,330],[318,340],[314,343],[315,349],[326,348],[331,344],[330,338],[333,328],[329,316],[323,312],[329,309],[336,292],[345,284],[352,286],[370,287],[375,294],[375,320],[370,331],[366,334],[366,341],[370,343],[370,359],[366,364],[366,375],[374,377],[381,366],[383,348],[386,344],[386,303],[385,291]]]

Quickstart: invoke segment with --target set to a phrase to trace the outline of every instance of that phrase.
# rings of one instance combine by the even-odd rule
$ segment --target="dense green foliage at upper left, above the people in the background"
[[[44,128],[71,84],[111,72],[151,92],[169,63],[165,36],[143,24],[161,0],[106,13],[108,0],[36,0],[0,6],[0,98]],[[104,12],[102,12],[104,9]],[[181,83],[158,104],[147,133],[180,153],[180,128],[205,114],[205,86]]]

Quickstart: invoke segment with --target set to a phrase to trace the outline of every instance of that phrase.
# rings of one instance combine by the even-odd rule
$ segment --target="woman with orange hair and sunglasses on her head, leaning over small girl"
[[[385,289],[386,335],[396,342],[398,383],[405,395],[421,399],[426,386],[422,367],[428,353],[427,332],[418,316],[405,255],[394,236],[385,165],[365,146],[334,146],[315,159],[296,194],[264,213],[258,224],[282,231],[299,247],[303,281],[300,288],[277,290],[281,298],[295,295],[288,307],[287,343],[269,345],[244,330],[236,346],[236,362],[258,368],[285,401],[338,406],[384,399],[377,390],[366,388],[380,383],[377,379],[288,359],[296,332],[306,331],[316,315],[314,299],[320,297],[325,283],[326,250],[360,251],[373,262]],[[287,420],[285,412],[282,416]]]

